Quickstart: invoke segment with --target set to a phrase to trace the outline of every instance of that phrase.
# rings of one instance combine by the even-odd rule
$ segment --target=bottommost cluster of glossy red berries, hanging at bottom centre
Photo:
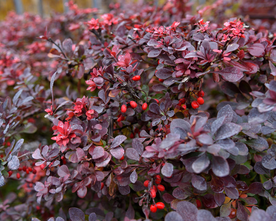
[[[155,183],[157,184],[157,186],[153,185],[150,188],[150,197],[152,197],[153,199],[156,197],[156,193],[158,190],[161,192],[163,192],[165,190],[165,187],[162,184],[160,184],[161,183],[160,175],[155,176]],[[145,187],[148,187],[149,184],[150,184],[150,180],[146,180],[144,182]],[[158,202],[158,203],[154,203],[154,204],[150,205],[150,211],[153,213],[155,213],[157,211],[157,209],[164,209],[164,208],[165,208],[165,204],[162,202]]]

